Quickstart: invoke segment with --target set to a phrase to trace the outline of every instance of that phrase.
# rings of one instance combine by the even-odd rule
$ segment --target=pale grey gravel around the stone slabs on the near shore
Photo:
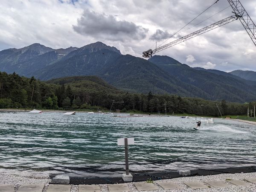
[[[156,180],[154,181],[154,185],[157,186],[159,190],[154,191],[143,191],[143,192],[256,192],[256,184],[250,183],[248,187],[240,187],[235,186],[226,181],[226,179],[232,180],[244,180],[244,179],[256,179],[256,172],[253,173],[236,173],[236,174],[219,174],[219,175],[207,175],[207,176],[193,176],[193,177],[179,177],[174,179],[165,179],[165,180]],[[183,182],[189,181],[200,181],[204,182],[207,180],[221,180],[224,183],[227,183],[229,186],[225,188],[208,188],[208,189],[191,189],[186,186]],[[51,180],[47,175],[38,175],[37,177],[29,177],[29,176],[18,176],[18,175],[6,175],[0,174],[0,184],[12,184],[15,186],[15,191],[21,184],[35,184],[42,183],[45,184],[43,192],[47,192],[49,182]],[[168,182],[172,181],[177,183],[182,189],[175,190],[163,190],[157,183],[160,182]],[[132,182],[127,183],[131,192],[138,192],[134,184],[136,183],[145,183],[145,182]],[[207,185],[207,183],[204,183]],[[102,192],[108,192],[108,185],[99,185]],[[208,186],[208,185],[207,185]],[[79,186],[72,185],[71,192],[78,192]]]

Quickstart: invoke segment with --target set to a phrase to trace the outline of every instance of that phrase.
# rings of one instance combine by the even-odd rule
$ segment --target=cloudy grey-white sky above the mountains
[[[101,41],[124,55],[142,57],[143,51],[156,44],[165,45],[234,15],[228,0],[215,1],[1,0],[0,51],[34,43],[58,49]],[[256,23],[256,1],[240,2]],[[167,55],[191,67],[256,71],[256,46],[239,20],[156,55]]]

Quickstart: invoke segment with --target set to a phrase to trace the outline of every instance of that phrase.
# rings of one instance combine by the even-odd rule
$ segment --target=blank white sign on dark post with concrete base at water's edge
[[[134,145],[134,138],[117,139],[117,145],[125,145],[125,174],[122,175],[124,181],[132,181],[132,175],[129,174],[128,166],[128,145]]]

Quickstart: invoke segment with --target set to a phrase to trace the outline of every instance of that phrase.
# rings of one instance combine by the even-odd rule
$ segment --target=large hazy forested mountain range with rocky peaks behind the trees
[[[192,68],[168,56],[145,60],[122,55],[96,42],[81,48],[52,49],[32,44],[0,51],[0,70],[49,80],[67,76],[98,76],[129,92],[177,94],[230,102],[256,100],[256,83],[231,73]]]

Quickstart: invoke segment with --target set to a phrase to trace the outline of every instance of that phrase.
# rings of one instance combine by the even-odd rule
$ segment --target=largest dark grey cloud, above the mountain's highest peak
[[[84,11],[73,29],[81,35],[112,41],[141,40],[146,37],[148,29],[126,20],[117,20],[113,15]]]

